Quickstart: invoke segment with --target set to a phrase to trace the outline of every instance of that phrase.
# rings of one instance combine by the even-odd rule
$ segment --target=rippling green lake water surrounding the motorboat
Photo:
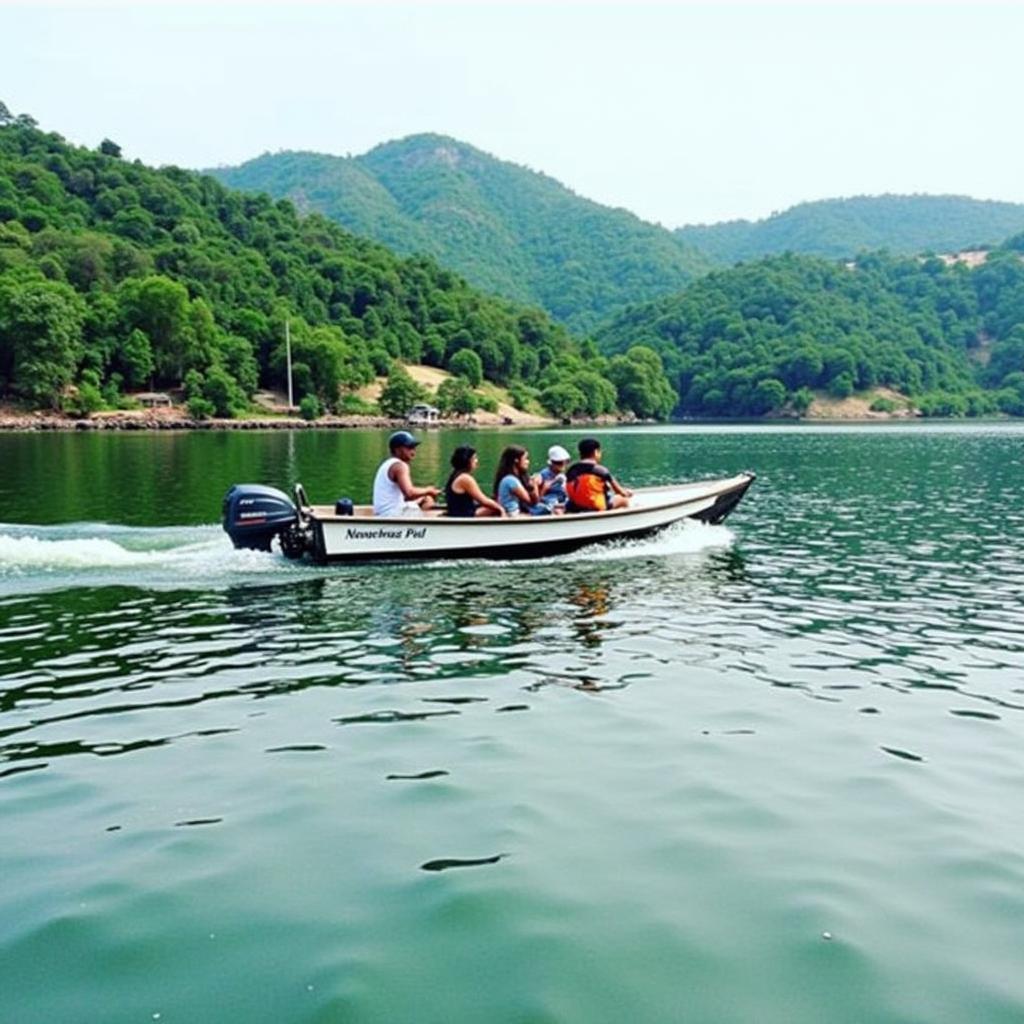
[[[0,435],[0,1020],[1024,1020],[1024,427],[603,436],[758,481],[321,569],[221,496],[365,499],[382,433]]]

